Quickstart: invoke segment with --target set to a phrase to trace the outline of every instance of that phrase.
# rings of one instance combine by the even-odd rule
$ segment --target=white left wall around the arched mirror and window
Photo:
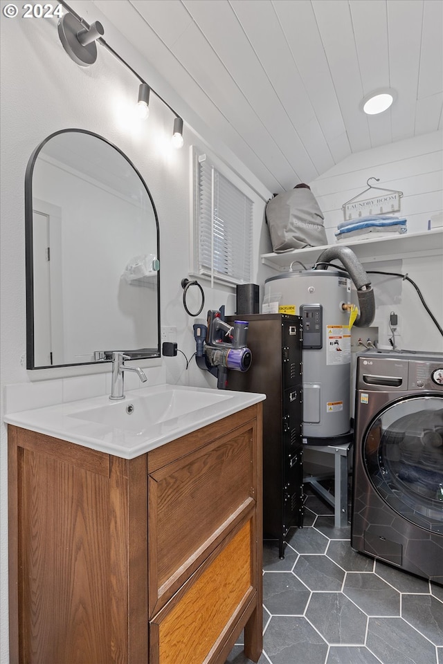
[[[82,2],[82,15],[88,20],[100,19],[90,3]],[[92,12],[93,19],[88,14]],[[106,24],[106,21],[103,21]],[[109,44],[151,82],[149,65],[137,59],[123,37],[113,28],[106,35]],[[176,151],[170,148],[174,116],[155,95],[151,95],[148,122],[135,123],[132,107],[138,93],[138,80],[118,63],[104,48],[99,47],[98,61],[91,68],[80,68],[64,52],[57,36],[56,21],[51,19],[1,20],[1,470],[0,470],[0,661],[8,662],[8,574],[7,574],[7,444],[3,424],[4,388],[24,384],[28,398],[20,407],[36,407],[41,399],[55,398],[60,391],[64,400],[105,394],[109,389],[108,367],[82,369],[47,369],[26,371],[26,289],[24,240],[24,176],[30,154],[49,134],[66,128],[88,129],[100,134],[119,147],[141,172],[156,204],[160,225],[161,260],[161,322],[177,327],[179,348],[188,358],[195,350],[192,336],[194,322],[183,309],[181,279],[190,270],[190,146],[207,146],[186,124],[185,145]],[[155,85],[154,85],[155,88]],[[174,104],[172,100],[168,100]],[[238,163],[237,173],[251,181],[255,178]],[[271,246],[263,228],[264,201],[271,194],[258,186],[263,196],[257,210],[255,226],[255,266],[253,280],[262,279],[259,252]],[[260,207],[260,206],[259,206]],[[126,256],[125,256],[126,259]],[[232,288],[211,290],[202,282],[208,308],[228,305],[235,308]],[[194,297],[192,295],[192,297]],[[192,297],[190,306],[193,306]],[[180,382],[190,385],[215,386],[215,379],[177,358],[145,360],[148,382]],[[87,378],[76,378],[89,374]],[[134,376],[127,376],[127,386],[138,387]],[[135,377],[136,378],[136,377]],[[85,380],[87,384],[85,385]],[[12,405],[14,390],[8,392]],[[21,393],[22,394],[22,393]],[[14,404],[17,407],[17,401]]]

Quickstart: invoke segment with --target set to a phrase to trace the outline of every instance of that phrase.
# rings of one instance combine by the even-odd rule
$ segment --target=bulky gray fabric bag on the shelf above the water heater
[[[327,245],[323,214],[307,185],[277,194],[266,203],[266,223],[273,251]]]

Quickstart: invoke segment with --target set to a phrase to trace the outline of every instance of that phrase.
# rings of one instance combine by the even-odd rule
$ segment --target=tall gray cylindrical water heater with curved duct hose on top
[[[330,268],[338,259],[344,269]],[[370,279],[352,250],[323,251],[312,270],[266,279],[264,297],[302,317],[303,442],[343,445],[352,441],[351,406],[351,282],[360,313],[354,324],[370,326],[374,293]]]

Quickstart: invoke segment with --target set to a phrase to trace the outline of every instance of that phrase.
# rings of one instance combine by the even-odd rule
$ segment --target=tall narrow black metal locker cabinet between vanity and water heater
[[[252,364],[228,371],[227,389],[266,394],[263,402],[263,536],[284,538],[302,526],[302,319],[287,314],[227,317],[246,320]]]

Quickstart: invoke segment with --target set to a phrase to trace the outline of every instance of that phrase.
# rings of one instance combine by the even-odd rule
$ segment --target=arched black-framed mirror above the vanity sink
[[[159,221],[134,165],[66,129],[26,170],[28,369],[160,356]]]

